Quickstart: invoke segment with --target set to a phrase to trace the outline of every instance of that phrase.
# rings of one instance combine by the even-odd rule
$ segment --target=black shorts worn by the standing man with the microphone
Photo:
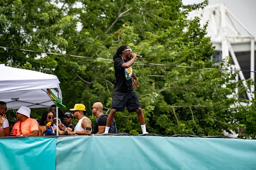
[[[112,98],[112,109],[116,111],[125,111],[125,107],[129,112],[134,112],[135,109],[141,108],[139,97],[136,91],[131,90],[127,93],[114,92]]]

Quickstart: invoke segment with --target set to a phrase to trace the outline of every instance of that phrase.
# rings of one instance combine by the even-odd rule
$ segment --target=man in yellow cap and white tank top
[[[78,119],[78,123],[73,132],[71,128],[68,127],[68,135],[90,135],[92,133],[92,122],[89,118],[84,116],[86,114],[86,108],[83,104],[76,104],[73,109],[73,116],[75,119]]]

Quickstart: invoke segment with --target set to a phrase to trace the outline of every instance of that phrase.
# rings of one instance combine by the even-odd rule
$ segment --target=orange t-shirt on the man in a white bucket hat
[[[17,129],[17,136],[20,136],[20,123],[21,123],[21,133],[23,135],[31,133],[33,130],[38,130],[38,122],[36,119],[28,118],[24,122],[17,122],[13,129]]]

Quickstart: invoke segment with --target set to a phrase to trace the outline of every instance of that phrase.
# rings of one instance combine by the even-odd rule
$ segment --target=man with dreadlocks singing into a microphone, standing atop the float
[[[105,133],[108,133],[116,112],[125,111],[125,107],[129,112],[135,111],[138,114],[142,133],[148,133],[146,131],[140,100],[136,91],[134,91],[134,88],[139,87],[138,79],[132,70],[132,64],[136,57],[137,54],[132,53],[131,48],[128,45],[121,45],[113,57],[116,80],[112,98],[112,109],[108,115]],[[132,78],[134,78],[134,83],[131,81]]]

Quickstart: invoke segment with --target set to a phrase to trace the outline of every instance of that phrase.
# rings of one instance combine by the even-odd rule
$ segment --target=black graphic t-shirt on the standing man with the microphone
[[[118,57],[114,61],[115,70],[115,84],[114,92],[124,93],[133,89],[132,87],[132,66],[129,68],[122,68],[122,64],[130,61],[130,59],[123,60],[122,57]]]

